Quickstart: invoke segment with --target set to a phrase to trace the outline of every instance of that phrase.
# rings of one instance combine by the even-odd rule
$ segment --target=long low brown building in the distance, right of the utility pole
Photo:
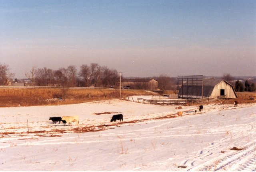
[[[155,79],[123,79],[121,80],[121,87],[136,90],[157,90],[158,81]]]

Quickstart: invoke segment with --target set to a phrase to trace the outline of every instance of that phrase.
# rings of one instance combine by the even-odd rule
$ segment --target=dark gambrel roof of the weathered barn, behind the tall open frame
[[[214,89],[214,86],[216,86],[217,84],[219,84],[220,82],[226,82],[228,85],[230,85],[232,87],[232,89],[234,90],[234,87],[232,86],[232,84],[229,84],[226,80],[223,79],[204,79],[203,80],[203,96],[204,97],[210,97],[212,94],[212,91]],[[180,90],[179,90],[179,95],[187,95],[187,91],[188,91],[188,96],[198,96],[198,97],[202,97],[202,85],[195,85],[193,84],[189,84],[186,85],[183,84],[183,86],[181,86]],[[236,94],[236,92],[234,91],[234,93]],[[237,96],[236,96],[237,97]]]

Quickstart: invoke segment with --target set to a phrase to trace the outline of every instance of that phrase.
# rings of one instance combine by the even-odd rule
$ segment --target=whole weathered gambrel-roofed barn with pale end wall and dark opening
[[[203,95],[202,95],[203,93]],[[182,84],[178,93],[179,98],[237,98],[232,84],[223,79],[204,79],[202,85]]]

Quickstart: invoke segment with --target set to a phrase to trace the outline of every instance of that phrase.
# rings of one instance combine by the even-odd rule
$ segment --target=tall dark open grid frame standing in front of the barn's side
[[[178,76],[178,98],[184,98],[184,99],[198,99],[198,89],[202,89],[202,99],[204,97],[203,92],[203,75],[190,75],[190,76]],[[180,90],[180,88],[182,88]],[[184,90],[184,88],[186,90]],[[194,88],[194,90],[193,90]],[[184,95],[185,92],[185,95]],[[191,93],[188,95],[188,93]],[[195,95],[193,94],[195,93]],[[193,97],[194,96],[194,97]]]

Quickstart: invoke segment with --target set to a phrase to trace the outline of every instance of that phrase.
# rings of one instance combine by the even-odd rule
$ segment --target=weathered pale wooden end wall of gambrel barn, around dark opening
[[[229,84],[227,84],[224,81],[222,81],[219,84],[217,84],[216,86],[214,86],[214,89],[212,91],[212,94],[211,94],[210,98],[220,96],[220,90],[221,89],[225,90],[226,98],[236,98],[236,95],[234,93],[234,90],[232,89],[232,86],[230,86]]]

